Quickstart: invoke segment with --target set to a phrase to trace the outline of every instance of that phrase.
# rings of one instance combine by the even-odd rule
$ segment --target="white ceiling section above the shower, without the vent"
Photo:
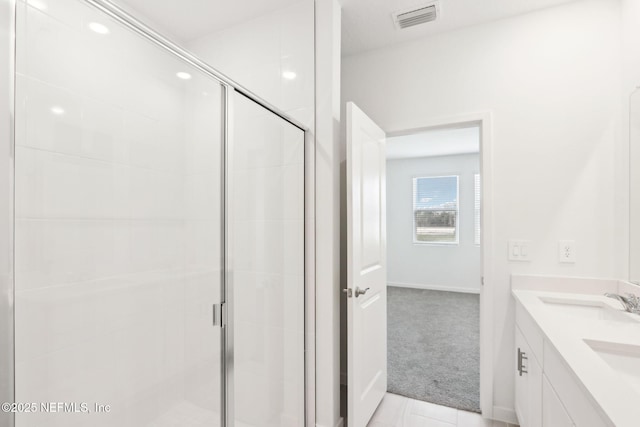
[[[179,42],[258,18],[299,0],[115,0]]]

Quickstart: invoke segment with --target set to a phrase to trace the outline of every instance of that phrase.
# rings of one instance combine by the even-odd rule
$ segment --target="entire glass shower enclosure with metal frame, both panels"
[[[108,1],[15,17],[2,420],[304,425],[304,129]]]

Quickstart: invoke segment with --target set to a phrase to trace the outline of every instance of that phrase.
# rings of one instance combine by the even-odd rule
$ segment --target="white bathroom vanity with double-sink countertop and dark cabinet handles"
[[[640,315],[627,282],[512,276],[515,409],[523,427],[640,425]]]

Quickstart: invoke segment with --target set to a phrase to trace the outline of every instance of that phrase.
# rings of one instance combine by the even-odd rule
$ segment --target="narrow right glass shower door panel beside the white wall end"
[[[230,427],[304,421],[304,132],[235,94],[229,147]]]

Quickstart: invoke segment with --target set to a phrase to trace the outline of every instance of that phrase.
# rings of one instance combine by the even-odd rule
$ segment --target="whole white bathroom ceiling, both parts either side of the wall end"
[[[303,0],[115,1],[186,43]],[[352,55],[575,0],[440,0],[438,20],[404,30],[396,29],[391,14],[429,0],[338,1],[342,4],[342,54]]]

